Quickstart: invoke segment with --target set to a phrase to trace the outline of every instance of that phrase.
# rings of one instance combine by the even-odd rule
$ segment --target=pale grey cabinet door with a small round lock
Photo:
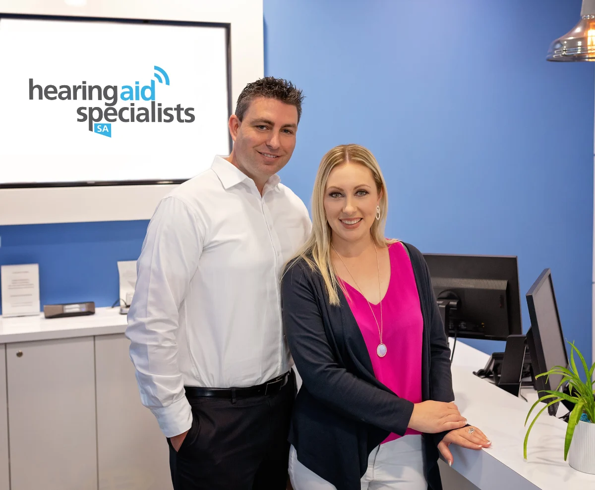
[[[93,337],[7,344],[11,490],[96,490]]]

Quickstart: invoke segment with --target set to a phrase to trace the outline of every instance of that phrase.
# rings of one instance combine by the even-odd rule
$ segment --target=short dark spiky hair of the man
[[[298,89],[289,80],[264,77],[246,85],[237,98],[236,116],[240,121],[243,120],[252,100],[258,97],[277,99],[285,104],[295,106],[297,109],[297,122],[299,122],[302,116],[302,90]]]

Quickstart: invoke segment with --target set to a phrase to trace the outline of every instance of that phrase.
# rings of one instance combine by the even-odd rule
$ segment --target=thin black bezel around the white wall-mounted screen
[[[227,76],[227,116],[231,116],[231,24],[218,22],[199,21],[174,21],[154,20],[139,18],[115,18],[115,17],[82,17],[73,15],[40,15],[40,14],[4,14],[0,12],[0,23],[3,18],[24,19],[24,20],[59,20],[99,23],[124,23],[124,24],[160,24],[165,26],[192,26],[192,27],[218,27],[226,32],[226,76]],[[228,135],[228,148],[231,150],[233,140]],[[190,178],[190,177],[189,177]],[[71,181],[71,182],[24,182],[24,183],[0,183],[0,189],[39,189],[47,187],[103,187],[103,186],[154,186],[181,184],[188,179],[156,179],[156,180],[101,180],[101,181]]]

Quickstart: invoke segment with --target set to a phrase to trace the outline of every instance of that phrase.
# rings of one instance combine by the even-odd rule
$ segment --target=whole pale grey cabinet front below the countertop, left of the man
[[[0,344],[0,490],[171,490],[129,345],[123,334]]]

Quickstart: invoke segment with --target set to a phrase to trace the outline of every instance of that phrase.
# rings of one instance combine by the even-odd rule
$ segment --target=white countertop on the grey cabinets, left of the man
[[[126,315],[120,315],[120,308],[96,308],[95,315],[67,318],[43,318],[43,313],[4,317],[0,318],[0,344],[121,334],[125,329]]]

